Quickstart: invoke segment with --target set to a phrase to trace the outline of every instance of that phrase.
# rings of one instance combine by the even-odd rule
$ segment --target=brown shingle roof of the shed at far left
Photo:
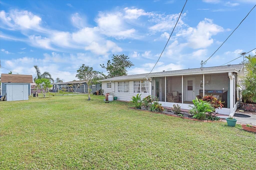
[[[3,83],[33,83],[32,75],[24,74],[1,74]]]

